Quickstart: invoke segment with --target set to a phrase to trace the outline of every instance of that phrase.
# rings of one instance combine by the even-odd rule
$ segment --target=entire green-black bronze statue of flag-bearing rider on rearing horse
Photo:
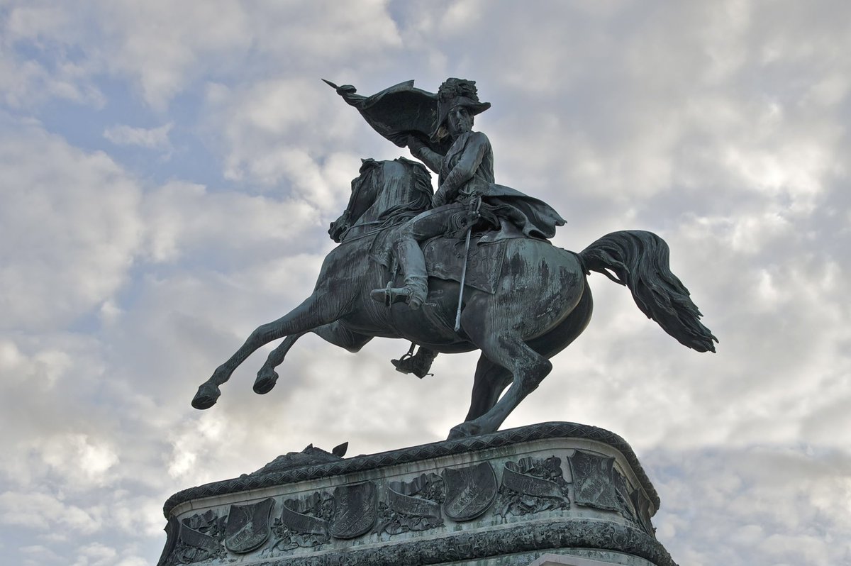
[[[449,79],[431,94],[409,81],[371,97],[332,86],[376,131],[436,170],[440,186],[432,194],[426,168],[403,157],[364,160],[346,211],[328,231],[340,245],[311,296],[255,329],[198,388],[194,407],[211,407],[234,369],[272,340],[284,338],[257,375],[258,393],[271,391],[275,368],[306,332],[351,352],[383,336],[419,344],[429,364],[435,352],[481,350],[470,410],[449,437],[495,432],[550,373],[548,358],[585,329],[591,271],[626,285],[642,312],[684,346],[715,352],[717,339],[670,272],[660,237],[613,232],[579,254],[559,249],[546,238],[561,217],[494,184],[488,139],[471,131],[472,116],[489,106],[474,83]]]

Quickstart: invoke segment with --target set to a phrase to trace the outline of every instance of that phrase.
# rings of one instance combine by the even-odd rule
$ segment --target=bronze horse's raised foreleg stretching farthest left
[[[219,386],[231,379],[231,374],[239,367],[239,364],[261,346],[266,346],[272,340],[283,338],[288,334],[304,334],[318,326],[328,324],[340,317],[342,310],[340,300],[334,300],[326,293],[314,292],[283,317],[260,325],[248,336],[243,346],[240,346],[237,352],[216,368],[210,379],[198,387],[198,392],[192,399],[192,407],[196,409],[212,407],[221,395]]]

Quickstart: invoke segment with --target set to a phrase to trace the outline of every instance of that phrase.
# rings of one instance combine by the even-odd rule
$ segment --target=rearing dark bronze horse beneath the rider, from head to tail
[[[404,303],[377,303],[369,291],[384,287],[394,276],[374,260],[374,250],[381,238],[430,207],[431,175],[403,157],[364,160],[351,186],[346,211],[329,230],[340,245],[325,258],[311,295],[283,317],[254,329],[198,387],[193,407],[213,406],[221,394],[219,386],[272,340],[284,338],[257,374],[254,392],[260,394],[275,386],[275,368],[307,332],[350,352],[380,336],[410,340],[441,353],[481,351],[470,409],[449,438],[496,432],[551,372],[550,358],[588,325],[593,303],[586,276],[591,272],[630,289],[639,309],[683,346],[715,352],[717,338],[700,323],[702,315],[688,289],[669,269],[667,244],[652,232],[613,232],[579,254],[544,239],[506,239],[492,293],[467,285],[462,291],[458,282],[429,277],[428,298],[419,310]],[[460,329],[455,330],[459,300]]]

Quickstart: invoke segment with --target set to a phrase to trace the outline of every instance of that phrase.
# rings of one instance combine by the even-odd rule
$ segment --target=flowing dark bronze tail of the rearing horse
[[[585,270],[629,288],[638,308],[680,344],[715,352],[712,341],[718,339],[700,323],[703,315],[688,298],[688,289],[671,273],[665,240],[642,230],[612,232],[579,255]]]

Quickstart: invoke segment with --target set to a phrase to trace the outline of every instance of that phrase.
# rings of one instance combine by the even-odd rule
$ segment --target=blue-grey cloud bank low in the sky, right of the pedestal
[[[657,536],[679,562],[697,566],[843,563],[851,546],[848,456],[754,446],[654,452],[662,507]],[[686,533],[704,533],[683,544]],[[758,557],[751,553],[758,552]]]

